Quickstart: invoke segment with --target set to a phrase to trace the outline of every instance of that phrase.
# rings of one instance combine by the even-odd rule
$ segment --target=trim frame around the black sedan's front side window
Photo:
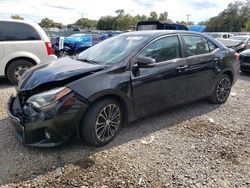
[[[154,43],[155,41],[157,40],[160,40],[162,38],[167,38],[167,37],[172,37],[172,36],[176,36],[178,41],[179,41],[179,45],[180,45],[180,56],[179,58],[175,58],[175,59],[170,59],[170,60],[167,60],[167,61],[161,61],[161,62],[158,62],[156,63],[156,66],[158,65],[162,65],[162,64],[169,64],[169,63],[172,63],[172,61],[174,60],[178,60],[178,59],[182,59],[184,57],[184,53],[183,53],[183,45],[182,45],[182,41],[181,41],[181,38],[180,38],[180,35],[179,33],[173,33],[173,34],[168,34],[168,35],[162,35],[162,36],[159,36],[153,40],[151,40],[150,42],[148,42],[142,49],[140,49],[134,57],[131,58],[130,62],[132,62],[132,67],[136,64],[136,58],[138,57],[138,55],[145,49],[147,48],[149,45],[151,45],[152,43]]]

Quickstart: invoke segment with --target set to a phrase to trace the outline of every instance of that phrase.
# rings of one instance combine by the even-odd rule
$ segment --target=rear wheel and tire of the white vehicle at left
[[[25,59],[15,60],[8,66],[6,76],[11,83],[17,85],[23,73],[32,66],[33,63]]]

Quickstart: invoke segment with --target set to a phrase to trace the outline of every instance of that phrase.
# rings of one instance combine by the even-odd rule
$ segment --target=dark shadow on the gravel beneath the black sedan
[[[202,100],[141,118],[123,126],[115,139],[101,148],[87,145],[77,139],[71,139],[65,145],[56,148],[27,148],[14,138],[14,129],[10,126],[8,118],[2,119],[0,125],[5,126],[1,126],[0,129],[5,128],[7,136],[4,136],[4,143],[0,145],[0,163],[2,163],[0,185],[32,179],[52,171],[58,156],[62,158],[63,165],[84,163],[95,153],[140,140],[154,132],[169,129],[186,120],[207,114],[218,107],[220,105]],[[24,168],[20,167],[20,164]]]

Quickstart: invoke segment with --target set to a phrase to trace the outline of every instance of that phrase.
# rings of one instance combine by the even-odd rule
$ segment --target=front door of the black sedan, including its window
[[[154,58],[156,66],[134,68],[132,71],[136,116],[144,116],[185,101],[187,63],[181,58],[181,47],[177,35],[155,40],[138,56]],[[136,66],[136,62],[134,63]]]

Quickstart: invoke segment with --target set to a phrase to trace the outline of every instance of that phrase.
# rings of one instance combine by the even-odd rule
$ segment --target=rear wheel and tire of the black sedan
[[[232,80],[227,74],[223,74],[217,81],[215,89],[209,100],[214,104],[223,104],[227,101],[232,88]]]

